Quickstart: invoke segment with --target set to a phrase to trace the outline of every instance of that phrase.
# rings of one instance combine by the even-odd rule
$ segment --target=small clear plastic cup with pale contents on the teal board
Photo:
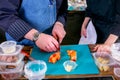
[[[67,72],[71,72],[77,67],[76,62],[68,60],[63,63],[63,66]]]

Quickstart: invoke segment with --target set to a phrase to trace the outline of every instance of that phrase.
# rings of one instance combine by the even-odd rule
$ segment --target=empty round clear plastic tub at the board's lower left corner
[[[29,80],[41,80],[45,77],[47,65],[42,60],[31,61],[25,65],[24,72]]]

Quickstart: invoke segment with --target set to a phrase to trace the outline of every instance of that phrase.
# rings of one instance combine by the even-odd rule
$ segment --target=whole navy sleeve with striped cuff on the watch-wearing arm
[[[15,40],[21,40],[32,29],[18,15],[20,0],[0,0],[0,28]]]

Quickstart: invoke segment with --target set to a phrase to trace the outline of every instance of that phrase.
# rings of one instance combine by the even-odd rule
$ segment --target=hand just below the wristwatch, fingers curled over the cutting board
[[[35,43],[37,47],[46,52],[56,51],[59,48],[58,41],[53,36],[44,33],[40,33]]]

